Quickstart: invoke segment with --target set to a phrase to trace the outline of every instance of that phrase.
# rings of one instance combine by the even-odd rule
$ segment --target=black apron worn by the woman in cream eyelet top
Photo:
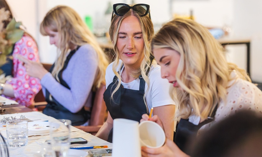
[[[192,149],[189,148],[189,142],[195,141],[197,138],[198,130],[205,124],[210,123],[214,120],[214,116],[217,111],[217,106],[214,108],[210,117],[207,120],[195,125],[189,122],[189,119],[181,119],[176,127],[176,134],[174,142],[176,145],[186,154],[192,155]]]

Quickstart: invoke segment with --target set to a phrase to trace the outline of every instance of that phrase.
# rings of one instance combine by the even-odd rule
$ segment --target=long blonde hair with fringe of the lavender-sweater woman
[[[98,73],[93,84],[93,90],[100,87],[101,83],[105,84],[105,71],[108,66],[108,58],[96,41],[95,36],[75,10],[67,6],[52,8],[45,15],[40,25],[40,32],[42,35],[49,35],[46,28],[58,32],[60,37],[58,50],[61,52],[55,61],[55,67],[52,71],[52,75],[58,81],[58,73],[64,67],[64,62],[70,52],[70,45],[81,46],[88,43],[97,52],[99,61]]]

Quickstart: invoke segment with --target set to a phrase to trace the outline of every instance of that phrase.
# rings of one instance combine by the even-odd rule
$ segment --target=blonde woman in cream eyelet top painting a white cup
[[[262,92],[237,65],[227,63],[224,49],[207,28],[189,19],[174,19],[163,25],[151,42],[151,50],[168,79],[170,95],[178,101],[175,143],[142,147],[142,156],[193,155],[187,145],[201,130],[208,130],[239,110],[262,113]],[[142,120],[162,125],[157,116]],[[223,132],[220,132],[223,134]]]

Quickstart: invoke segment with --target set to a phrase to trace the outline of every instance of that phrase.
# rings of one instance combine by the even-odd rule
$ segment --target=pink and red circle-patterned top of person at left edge
[[[15,44],[13,57],[16,54],[23,55],[31,61],[39,62],[36,42],[28,35],[23,35]],[[23,62],[15,57],[13,59],[13,65],[13,78],[6,81],[6,83],[12,85],[15,97],[5,97],[15,100],[21,105],[29,106],[34,102],[35,95],[41,89],[40,80],[27,75],[25,67],[23,67]]]

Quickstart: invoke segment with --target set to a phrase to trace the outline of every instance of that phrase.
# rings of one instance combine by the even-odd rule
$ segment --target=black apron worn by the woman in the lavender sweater
[[[66,69],[67,64],[70,60],[70,58],[73,56],[73,54],[77,51],[77,49],[80,46],[78,46],[75,50],[72,50],[69,55],[66,58],[66,61],[64,63],[64,67],[63,69],[58,73],[58,78],[60,80],[60,84],[62,84],[64,87],[70,89],[70,87],[68,86],[68,84],[63,80],[62,78],[62,73],[63,71]],[[50,73],[52,72],[54,65],[52,65],[51,69],[50,69]],[[54,117],[56,119],[68,119],[71,120],[72,125],[82,125],[83,123],[85,123],[87,120],[90,119],[90,111],[85,111],[84,107],[78,111],[77,113],[72,113],[69,110],[67,110],[64,106],[62,106],[53,96],[52,96],[52,100],[49,99],[49,91],[46,89],[45,90],[45,101],[48,102],[48,104],[46,105],[45,109],[43,110],[43,113]],[[73,105],[73,104],[72,104]]]

